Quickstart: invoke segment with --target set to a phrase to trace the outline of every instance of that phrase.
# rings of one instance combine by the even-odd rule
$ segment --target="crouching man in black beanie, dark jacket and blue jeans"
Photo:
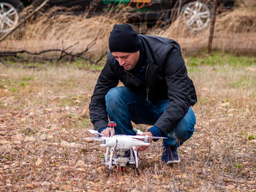
[[[194,131],[190,106],[197,101],[178,43],[121,24],[113,27],[109,48],[89,106],[94,129],[109,137],[108,118],[116,122],[116,134],[135,135],[131,121],[151,125],[143,135],[168,137],[162,162],[178,163],[177,147]],[[119,81],[124,86],[116,87]]]

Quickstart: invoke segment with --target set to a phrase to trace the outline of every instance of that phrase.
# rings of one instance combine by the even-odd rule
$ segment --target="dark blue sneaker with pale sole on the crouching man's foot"
[[[162,162],[164,164],[178,164],[180,159],[178,158],[177,147],[170,145],[164,145],[164,152],[162,153]]]

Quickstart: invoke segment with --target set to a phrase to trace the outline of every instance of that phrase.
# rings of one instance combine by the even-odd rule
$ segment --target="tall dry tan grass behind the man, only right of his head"
[[[209,28],[202,31],[188,30],[178,18],[167,30],[156,29],[150,34],[175,39],[180,43],[184,53],[197,54],[208,46]],[[256,50],[256,15],[255,11],[235,9],[217,16],[213,48],[236,54],[254,55]]]

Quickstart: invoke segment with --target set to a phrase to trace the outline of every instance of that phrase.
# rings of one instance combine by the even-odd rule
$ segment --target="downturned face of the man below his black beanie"
[[[124,69],[129,71],[137,64],[140,58],[140,50],[135,53],[112,52],[112,55],[116,58],[120,66],[124,66]]]

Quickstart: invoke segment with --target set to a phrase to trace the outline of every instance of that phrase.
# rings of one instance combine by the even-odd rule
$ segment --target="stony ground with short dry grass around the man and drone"
[[[255,67],[189,66],[197,124],[181,164],[162,165],[155,142],[138,175],[108,172],[104,150],[83,140],[99,71],[0,66],[0,191],[255,191]]]

